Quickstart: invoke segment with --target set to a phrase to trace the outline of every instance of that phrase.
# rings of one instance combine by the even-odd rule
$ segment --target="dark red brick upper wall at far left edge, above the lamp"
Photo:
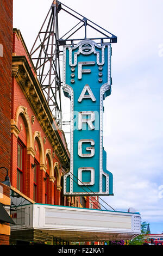
[[[11,115],[11,64],[12,64],[12,0],[0,1],[0,167],[6,167],[10,176],[10,115]],[[6,170],[0,170],[3,181]]]

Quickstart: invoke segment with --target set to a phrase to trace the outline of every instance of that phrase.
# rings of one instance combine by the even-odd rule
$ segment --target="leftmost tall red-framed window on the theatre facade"
[[[17,190],[23,192],[24,145],[17,142]]]

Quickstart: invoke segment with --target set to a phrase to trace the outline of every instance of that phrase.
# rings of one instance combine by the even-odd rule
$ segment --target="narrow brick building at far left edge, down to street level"
[[[0,167],[10,176],[10,114],[12,65],[12,0],[0,2]],[[0,170],[0,181],[5,180],[6,169]],[[0,182],[0,203],[10,204],[10,188]],[[9,224],[0,221],[0,245],[9,244]]]

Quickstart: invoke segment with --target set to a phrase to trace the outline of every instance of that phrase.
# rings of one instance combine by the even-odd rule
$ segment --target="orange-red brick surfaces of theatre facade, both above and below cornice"
[[[32,66],[30,63],[30,60],[28,58],[28,54],[26,52],[26,49],[24,48],[23,41],[18,40],[17,34],[14,32],[13,37],[13,52],[16,53],[16,56],[26,56],[29,65]],[[12,78],[12,109],[11,109],[11,119],[16,118],[16,111],[19,106],[24,106],[27,108],[27,113],[29,115],[29,119],[31,119],[32,115],[35,115],[33,112],[32,107],[30,106],[30,103],[26,99],[26,96],[23,94],[23,91],[20,87],[20,85],[17,83],[15,77]],[[32,134],[34,134],[35,131],[41,132],[41,138],[43,141],[43,137],[47,137],[45,132],[42,130],[42,127],[39,123],[39,120],[35,118],[34,124],[32,124],[32,121],[30,121],[30,125],[32,127]],[[24,120],[21,116],[18,117],[18,129],[20,130],[20,134],[18,135],[18,138],[23,142],[23,144],[27,147],[27,127],[24,123]],[[40,144],[38,143],[39,139],[35,139],[34,143],[34,150],[36,151],[35,159],[38,163],[40,162]],[[51,143],[46,139],[46,143],[43,144],[44,153],[46,152],[46,149],[51,149],[51,153],[53,152],[53,148]],[[11,185],[16,187],[16,180],[17,180],[17,138],[14,135],[11,135]],[[49,159],[47,157],[47,174],[49,175]],[[56,162],[59,160],[53,159],[53,162]],[[23,182],[23,193],[26,194],[30,199],[33,200],[33,185],[34,185],[34,169],[32,169],[31,164],[34,163],[34,158],[31,155],[26,154],[26,166],[24,166],[24,182]],[[61,173],[61,170],[60,170]],[[37,193],[37,202],[38,203],[45,203],[45,181],[43,178],[45,178],[46,174],[43,170],[39,170],[39,179],[37,182],[37,185],[39,186],[39,193]],[[48,190],[49,195],[48,196],[48,203],[53,204],[54,202],[54,183],[52,181],[49,181],[48,179]]]

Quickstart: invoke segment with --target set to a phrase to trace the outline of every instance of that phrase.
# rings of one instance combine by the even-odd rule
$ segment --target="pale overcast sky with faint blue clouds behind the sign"
[[[61,2],[118,38],[112,45],[112,94],[104,101],[104,148],[108,170],[114,175],[114,197],[103,199],[116,210],[135,208],[142,221],[151,223],[152,233],[161,233],[163,3]],[[51,4],[52,0],[14,0],[14,27],[20,29],[28,50]],[[64,31],[69,21],[67,16],[61,17],[60,29]]]

